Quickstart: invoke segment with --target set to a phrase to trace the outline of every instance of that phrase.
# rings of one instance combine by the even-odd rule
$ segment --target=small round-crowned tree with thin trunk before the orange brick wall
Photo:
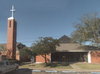
[[[47,63],[46,55],[55,52],[56,46],[59,46],[59,40],[53,39],[52,37],[41,37],[31,48],[37,55],[45,55],[44,59],[45,63]]]

